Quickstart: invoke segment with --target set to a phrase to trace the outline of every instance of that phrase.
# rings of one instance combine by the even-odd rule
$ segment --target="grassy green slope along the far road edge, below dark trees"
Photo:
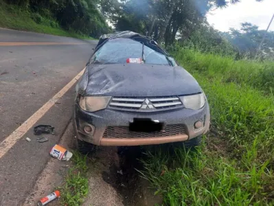
[[[57,36],[93,39],[90,36],[63,30],[54,19],[22,10],[18,6],[10,5],[2,0],[0,0],[0,27]]]

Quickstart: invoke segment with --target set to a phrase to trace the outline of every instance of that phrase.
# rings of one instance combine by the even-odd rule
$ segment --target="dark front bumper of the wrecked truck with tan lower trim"
[[[76,103],[73,108],[73,124],[76,130],[76,137],[82,141],[87,141],[98,146],[138,146],[150,144],[164,144],[175,141],[186,141],[194,137],[203,135],[209,129],[209,106],[199,110],[179,108],[170,111],[160,111],[153,113],[137,113],[117,111],[111,108],[89,113],[83,111]],[[133,118],[150,118],[165,122],[167,125],[182,124],[185,128],[185,134],[163,136],[161,137],[137,137],[137,138],[106,138],[104,132],[109,126],[129,126]],[[194,123],[202,121],[203,126],[196,129]],[[87,133],[84,126],[91,126],[92,132]]]

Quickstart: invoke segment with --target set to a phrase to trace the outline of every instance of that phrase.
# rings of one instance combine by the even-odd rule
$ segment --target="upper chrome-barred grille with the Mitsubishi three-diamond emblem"
[[[133,111],[159,111],[183,106],[177,96],[155,98],[124,98],[114,97],[109,104],[110,108]]]

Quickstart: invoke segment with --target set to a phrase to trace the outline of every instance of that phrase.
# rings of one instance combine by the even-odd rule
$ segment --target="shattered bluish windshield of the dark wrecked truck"
[[[94,63],[124,64],[128,58],[141,58],[142,44],[129,38],[117,38],[105,43],[91,58]],[[145,63],[170,65],[165,56],[144,45]]]

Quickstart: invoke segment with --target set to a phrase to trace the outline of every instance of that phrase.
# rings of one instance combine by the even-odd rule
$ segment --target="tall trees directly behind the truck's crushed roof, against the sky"
[[[255,0],[254,0],[255,1]],[[260,0],[258,0],[260,1]],[[205,14],[239,0],[101,0],[116,30],[133,30],[152,36],[159,43],[169,45],[177,32],[188,37],[196,26],[206,21]]]

